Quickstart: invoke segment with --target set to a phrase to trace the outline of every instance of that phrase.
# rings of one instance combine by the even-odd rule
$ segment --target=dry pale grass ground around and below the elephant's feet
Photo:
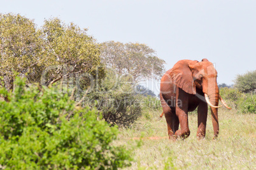
[[[209,112],[201,141],[196,138],[197,113],[188,113],[190,136],[170,141],[165,118],[158,120],[160,110],[143,113],[133,127],[120,129],[114,145],[132,148],[134,161],[127,169],[256,169],[256,114],[220,108],[220,134],[213,140]]]

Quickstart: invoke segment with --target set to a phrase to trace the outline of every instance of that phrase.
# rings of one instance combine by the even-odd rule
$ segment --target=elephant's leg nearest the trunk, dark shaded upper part
[[[197,138],[201,139],[206,134],[206,121],[207,121],[208,104],[200,103],[197,108]]]

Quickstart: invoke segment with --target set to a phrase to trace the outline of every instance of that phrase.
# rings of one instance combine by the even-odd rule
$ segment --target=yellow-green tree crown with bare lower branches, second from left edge
[[[40,31],[44,40],[44,55],[47,55],[44,63],[54,66],[45,72],[46,85],[83,73],[96,76],[98,71],[98,76],[104,76],[99,47],[96,40],[87,35],[87,29],[80,29],[73,23],[66,25],[53,18],[45,20]]]

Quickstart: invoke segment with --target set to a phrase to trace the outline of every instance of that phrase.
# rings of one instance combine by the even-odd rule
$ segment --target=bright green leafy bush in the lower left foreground
[[[0,90],[0,167],[6,169],[117,169],[129,152],[113,146],[117,127],[97,120],[97,111],[76,110],[68,95],[25,87]],[[69,114],[72,113],[72,114]],[[73,115],[67,120],[67,115]]]

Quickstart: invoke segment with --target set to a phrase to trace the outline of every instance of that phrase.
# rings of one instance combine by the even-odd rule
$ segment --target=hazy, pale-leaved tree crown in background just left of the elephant
[[[164,73],[164,60],[145,44],[107,41],[101,43],[101,58],[119,74],[129,74],[134,81],[160,78]]]

